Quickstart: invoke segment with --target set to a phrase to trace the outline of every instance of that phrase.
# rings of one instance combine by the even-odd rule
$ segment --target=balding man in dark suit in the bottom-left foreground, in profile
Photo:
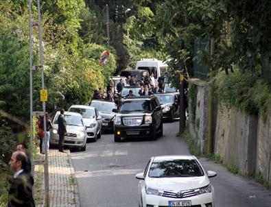
[[[27,156],[23,151],[14,151],[8,164],[14,172],[13,179],[10,181],[10,191],[8,192],[8,206],[34,207],[35,202],[32,195],[33,182],[25,172]]]

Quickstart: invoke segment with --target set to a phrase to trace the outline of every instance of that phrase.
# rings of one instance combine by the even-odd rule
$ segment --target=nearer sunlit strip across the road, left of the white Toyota
[[[95,178],[103,176],[115,176],[115,175],[135,175],[140,173],[142,169],[110,169],[102,171],[75,171],[76,178]]]

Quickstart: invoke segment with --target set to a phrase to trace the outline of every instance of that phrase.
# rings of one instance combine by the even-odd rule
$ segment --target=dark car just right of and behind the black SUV
[[[180,117],[180,93],[156,93],[163,110],[163,119],[174,121]]]

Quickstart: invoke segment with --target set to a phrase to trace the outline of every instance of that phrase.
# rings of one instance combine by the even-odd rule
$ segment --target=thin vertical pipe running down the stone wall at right
[[[213,56],[215,53],[215,40],[211,38],[211,49],[210,55]],[[213,152],[213,84],[209,84],[208,93],[208,154]]]

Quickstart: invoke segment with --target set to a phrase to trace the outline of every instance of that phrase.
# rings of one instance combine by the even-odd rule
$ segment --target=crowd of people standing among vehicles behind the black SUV
[[[142,81],[137,79],[137,75],[128,76],[128,82],[130,86],[140,86],[141,89],[139,90],[139,95],[152,95],[154,93],[163,93],[163,84],[155,84],[154,73],[147,73],[145,77],[143,77]],[[106,87],[106,91],[102,91],[102,88],[96,88],[94,90],[93,98],[92,99],[104,99],[108,101],[114,102],[117,99],[118,95],[121,93],[121,90],[124,86],[123,79],[119,80],[115,91],[115,82],[114,80],[110,79],[108,86]],[[132,90],[129,91],[127,96],[134,96]]]

